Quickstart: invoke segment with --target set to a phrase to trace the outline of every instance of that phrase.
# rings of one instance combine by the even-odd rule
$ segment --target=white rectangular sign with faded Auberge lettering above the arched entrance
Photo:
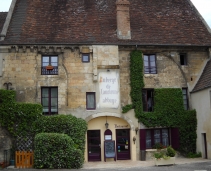
[[[100,72],[99,77],[100,108],[119,107],[119,73]]]

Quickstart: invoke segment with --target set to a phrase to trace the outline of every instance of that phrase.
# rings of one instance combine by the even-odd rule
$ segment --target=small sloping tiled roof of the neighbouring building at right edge
[[[192,92],[203,90],[208,87],[211,87],[211,60],[207,62],[204,71]]]

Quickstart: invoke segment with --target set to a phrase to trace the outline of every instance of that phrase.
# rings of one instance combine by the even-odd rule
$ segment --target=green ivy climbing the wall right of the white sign
[[[132,104],[122,108],[122,113],[134,109],[139,122],[146,127],[177,127],[180,133],[180,151],[184,154],[196,152],[196,111],[186,111],[182,90],[179,88],[154,89],[154,111],[143,112],[142,89],[143,58],[141,51],[133,51],[130,56],[130,86]]]

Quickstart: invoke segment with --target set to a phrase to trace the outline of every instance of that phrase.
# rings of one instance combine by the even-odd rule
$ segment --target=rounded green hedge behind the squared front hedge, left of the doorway
[[[67,134],[72,138],[76,148],[82,152],[85,150],[87,123],[81,118],[61,114],[42,116],[34,122],[33,130],[35,134],[42,132]]]

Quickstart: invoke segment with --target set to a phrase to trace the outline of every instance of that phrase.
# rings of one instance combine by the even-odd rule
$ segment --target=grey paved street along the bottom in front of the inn
[[[5,171],[49,171],[49,169],[16,169],[7,168]],[[51,171],[67,171],[69,169],[50,169]],[[107,162],[86,162],[81,169],[71,171],[211,171],[211,160],[177,158],[175,165],[155,166],[154,161],[118,160]]]

